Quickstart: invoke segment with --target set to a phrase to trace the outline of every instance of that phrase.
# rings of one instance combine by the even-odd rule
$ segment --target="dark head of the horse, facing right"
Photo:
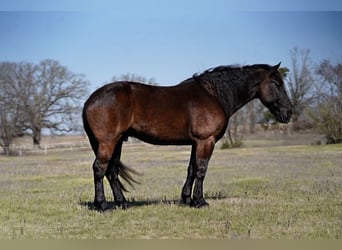
[[[258,96],[278,121],[288,123],[292,115],[292,104],[286,93],[282,75],[278,71],[279,66],[280,63],[266,69]]]

